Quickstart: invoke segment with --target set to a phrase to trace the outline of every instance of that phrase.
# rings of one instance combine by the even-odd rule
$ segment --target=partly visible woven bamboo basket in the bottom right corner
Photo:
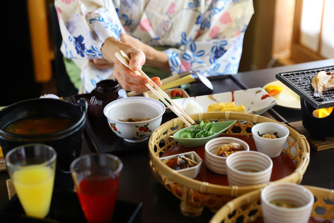
[[[311,217],[334,220],[334,190],[305,186],[314,195]],[[210,223],[224,221],[252,222],[262,217],[261,189],[244,194],[223,206],[212,217]],[[259,220],[259,219],[257,219]]]

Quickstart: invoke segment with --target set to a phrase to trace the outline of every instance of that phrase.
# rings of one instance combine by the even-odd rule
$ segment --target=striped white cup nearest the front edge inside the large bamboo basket
[[[257,185],[270,181],[273,161],[263,153],[240,151],[227,157],[226,168],[228,185]]]

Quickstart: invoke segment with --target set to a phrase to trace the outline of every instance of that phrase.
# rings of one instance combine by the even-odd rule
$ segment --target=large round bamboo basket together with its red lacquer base
[[[251,133],[251,128],[255,124],[262,122],[280,123],[259,115],[232,112],[198,113],[190,115],[190,117],[194,121],[205,120],[205,122],[238,120],[226,131],[224,136],[244,140],[249,144],[250,150],[256,150]],[[204,146],[185,148],[169,138],[176,131],[184,128],[184,122],[179,118],[164,123],[151,135],[148,143],[150,167],[154,176],[164,187],[181,200],[180,210],[184,215],[198,216],[202,213],[204,206],[212,211],[217,211],[235,197],[264,188],[270,183],[299,183],[302,180],[310,160],[310,147],[303,135],[289,126],[286,127],[290,134],[284,148],[282,148],[281,155],[273,158],[273,174],[269,183],[245,187],[228,186],[226,175],[214,173],[205,166]],[[162,156],[187,151],[195,151],[203,159],[200,173],[195,179],[176,172],[160,160]]]

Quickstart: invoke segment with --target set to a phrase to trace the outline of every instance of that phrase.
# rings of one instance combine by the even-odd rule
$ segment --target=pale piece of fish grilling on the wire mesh
[[[312,87],[314,88],[314,96],[323,98],[322,92],[334,90],[334,73],[320,71],[311,81]]]

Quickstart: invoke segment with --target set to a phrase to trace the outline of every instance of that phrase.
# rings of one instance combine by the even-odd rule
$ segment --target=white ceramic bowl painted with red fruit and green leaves
[[[128,97],[110,102],[103,110],[111,130],[127,142],[142,142],[157,129],[165,112],[165,105],[147,97]],[[119,119],[150,118],[143,122],[120,122]]]

